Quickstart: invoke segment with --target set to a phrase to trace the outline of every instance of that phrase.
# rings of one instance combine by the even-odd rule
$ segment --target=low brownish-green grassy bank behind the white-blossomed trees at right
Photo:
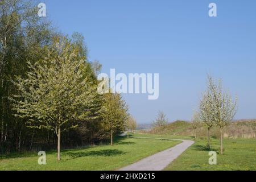
[[[194,131],[192,129],[191,122],[187,121],[175,121],[168,123],[166,126],[154,127],[145,133],[162,134],[162,135],[183,135],[192,136]],[[218,138],[220,136],[217,127],[213,127],[211,135]],[[206,137],[207,130],[203,125],[197,129],[197,136]],[[224,137],[229,138],[256,138],[256,119],[241,119],[232,122],[224,129]]]

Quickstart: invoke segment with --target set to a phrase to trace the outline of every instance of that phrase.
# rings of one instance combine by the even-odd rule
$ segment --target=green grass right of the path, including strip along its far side
[[[156,138],[181,138],[191,139],[192,137],[135,134],[138,137],[156,137]],[[205,148],[207,141],[197,139],[183,154],[174,160],[165,170],[169,171],[214,171],[214,170],[256,170],[256,140],[255,139],[224,139],[224,155],[218,154],[220,151],[220,141],[211,139],[211,149]],[[217,165],[210,165],[209,151],[217,152]]]

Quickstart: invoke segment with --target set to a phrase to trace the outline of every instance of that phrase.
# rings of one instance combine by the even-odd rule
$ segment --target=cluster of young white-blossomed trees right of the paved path
[[[193,129],[203,123],[208,130],[207,148],[210,148],[210,129],[213,126],[220,128],[220,152],[223,154],[222,130],[233,121],[237,111],[237,98],[233,100],[229,92],[222,88],[222,81],[215,81],[208,76],[207,90],[203,93],[199,109],[195,111],[192,119]],[[195,132],[196,138],[196,132]]]

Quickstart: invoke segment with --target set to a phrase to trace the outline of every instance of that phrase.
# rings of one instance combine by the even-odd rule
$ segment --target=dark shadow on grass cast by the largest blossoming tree
[[[82,158],[85,156],[116,156],[123,155],[126,152],[114,149],[114,150],[98,150],[89,152],[67,152],[66,154],[71,157],[71,159]]]

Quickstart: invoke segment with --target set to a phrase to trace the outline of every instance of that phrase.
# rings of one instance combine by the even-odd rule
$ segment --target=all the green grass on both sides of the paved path
[[[169,139],[193,139],[192,137],[134,134],[134,137]],[[256,170],[255,139],[224,139],[224,155],[218,154],[219,140],[211,138],[211,149],[205,139],[197,139],[183,154],[164,170],[213,171],[213,170]],[[0,170],[115,170],[140,159],[175,146],[179,141],[116,138],[114,146],[102,145],[73,150],[63,150],[62,160],[56,161],[56,152],[48,151],[47,164],[39,165],[36,152],[0,156]],[[209,151],[217,152],[217,165],[210,165]]]

